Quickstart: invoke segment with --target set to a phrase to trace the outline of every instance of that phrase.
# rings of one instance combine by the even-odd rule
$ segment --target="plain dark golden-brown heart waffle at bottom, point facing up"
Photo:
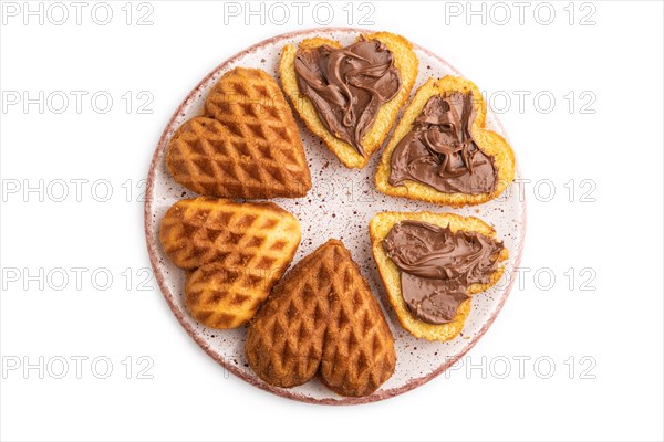
[[[249,325],[247,360],[266,382],[302,385],[320,372],[342,396],[366,396],[394,372],[394,338],[343,243],[330,240],[274,287]]]

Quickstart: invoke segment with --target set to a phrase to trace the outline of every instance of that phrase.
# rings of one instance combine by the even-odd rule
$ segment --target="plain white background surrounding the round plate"
[[[135,22],[148,9],[137,11],[137,3],[131,25],[121,9],[124,1],[111,3],[114,15],[107,25],[94,23],[90,2],[77,25],[75,9],[65,2],[65,24],[50,22],[61,17],[51,10],[44,24],[32,17],[23,25],[21,10],[18,17],[3,14],[0,31],[2,440],[664,436],[662,3],[552,2],[556,17],[549,25],[542,24],[549,7],[537,15],[537,3],[526,8],[523,24],[512,2],[501,10],[486,3],[486,24],[479,15],[466,23],[466,2],[404,3],[371,2],[362,10],[354,4],[350,23],[346,2],[330,3],[331,24],[362,24],[360,17],[373,10],[371,29],[401,33],[442,55],[496,97],[496,108],[506,105],[500,97],[511,97],[500,115],[522,175],[531,180],[525,187],[528,233],[521,263],[531,271],[465,359],[466,367],[401,397],[349,408],[289,401],[225,373],[180,328],[154,281],[139,290],[139,272],[149,267],[139,180],[163,127],[189,90],[248,45],[317,27],[314,3],[304,9],[301,24],[295,7],[286,3],[291,12],[287,23],[270,23],[267,17],[261,24],[251,17],[246,25],[242,14],[226,17],[225,23],[221,2],[152,1],[153,24],[141,27]],[[504,20],[504,6],[511,20],[500,25],[496,21]],[[272,12],[281,20],[280,11]],[[325,11],[319,12],[324,20]],[[589,13],[585,22],[594,24],[581,25]],[[46,103],[43,113],[37,104],[27,112],[22,103],[8,105],[7,98],[24,91],[32,97],[39,91],[89,95],[80,114],[72,95],[62,114],[52,112],[60,102]],[[114,98],[106,114],[91,107],[97,91]],[[134,97],[129,114],[121,98],[127,91]],[[142,91],[154,96],[147,106],[152,114],[137,113]],[[523,108],[515,91],[530,93]],[[538,93],[544,97],[533,103]],[[546,113],[548,96],[556,106]],[[583,108],[589,97],[596,99]],[[40,179],[43,196],[23,192]],[[59,179],[69,183],[63,202],[55,201],[62,191]],[[87,180],[80,202],[72,179]],[[108,201],[95,200],[104,197],[104,186],[91,194],[96,180],[111,183]],[[564,187],[570,180],[572,201],[571,186]],[[581,187],[581,180],[591,181]],[[544,182],[539,192],[536,182]],[[546,201],[550,185],[556,194]],[[72,267],[87,269],[81,287]],[[25,277],[39,275],[40,269],[43,287]],[[63,290],[56,290],[59,269],[70,277]],[[97,274],[97,287],[91,282],[95,269],[107,269]],[[541,280],[535,280],[540,269]],[[105,284],[103,272],[113,275],[105,291],[98,286]],[[592,272],[596,277],[583,286]],[[81,379],[71,359],[76,356],[89,358]],[[137,370],[145,367],[141,356],[154,361],[147,371],[153,379],[138,379]],[[43,379],[38,369],[9,368],[40,357],[45,368],[51,361]],[[61,371],[59,357],[69,360],[63,379],[53,376]],[[113,362],[107,379],[92,371],[95,357]],[[122,364],[127,357],[129,379]],[[466,370],[468,364],[481,367],[483,357],[492,368],[486,376],[480,368]],[[531,358],[522,376],[519,357]],[[538,357],[556,364],[550,378],[542,376],[547,364],[533,367]],[[499,379],[505,360],[511,361],[511,372]],[[96,373],[104,368],[100,364]]]

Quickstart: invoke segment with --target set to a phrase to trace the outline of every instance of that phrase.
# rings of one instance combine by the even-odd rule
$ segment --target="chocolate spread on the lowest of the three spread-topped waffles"
[[[452,322],[468,299],[468,286],[486,284],[498,267],[502,242],[481,233],[421,221],[394,224],[383,249],[401,274],[402,296],[411,313],[429,324]]]

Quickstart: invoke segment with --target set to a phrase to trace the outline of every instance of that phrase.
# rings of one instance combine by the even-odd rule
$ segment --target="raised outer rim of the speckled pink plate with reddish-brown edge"
[[[507,287],[505,288],[505,292],[500,295],[500,301],[498,302],[498,305],[496,306],[496,309],[494,311],[492,315],[486,320],[486,323],[483,325],[483,327],[479,329],[479,332],[474,336],[474,338],[468,343],[468,345],[461,351],[459,351],[456,355],[454,355],[453,357],[448,358],[445,364],[443,364],[439,368],[432,371],[430,373],[423,376],[421,378],[412,379],[411,381],[408,381],[407,383],[405,383],[401,387],[393,388],[390,390],[377,391],[373,394],[370,394],[370,396],[366,396],[363,398],[341,398],[341,399],[311,398],[311,397],[308,397],[304,394],[295,393],[295,392],[287,390],[287,389],[281,389],[281,388],[272,387],[264,382],[260,382],[259,379],[252,378],[249,375],[247,375],[247,372],[240,370],[239,368],[232,366],[231,364],[226,362],[221,358],[221,356],[219,354],[215,352],[210,348],[210,346],[203,338],[200,338],[197,335],[197,333],[194,330],[194,328],[184,320],[183,314],[178,311],[176,305],[173,303],[172,299],[174,298],[174,294],[170,293],[170,291],[168,290],[168,287],[165,283],[164,273],[162,272],[162,270],[158,265],[158,259],[156,255],[156,249],[158,248],[158,239],[156,238],[156,235],[153,235],[151,233],[151,225],[149,225],[151,221],[149,220],[151,220],[151,214],[152,214],[152,198],[149,196],[153,193],[157,162],[160,160],[162,155],[167,147],[168,134],[172,131],[173,126],[175,125],[175,122],[177,120],[177,117],[183,112],[183,109],[185,109],[189,105],[189,103],[195,99],[198,92],[205,87],[205,84],[209,81],[209,78],[212,77],[219,71],[224,70],[228,64],[235,63],[238,59],[240,59],[253,51],[257,51],[267,44],[273,43],[274,41],[282,40],[282,39],[290,39],[290,38],[294,38],[294,36],[302,35],[302,34],[309,34],[312,32],[361,32],[361,33],[366,33],[366,32],[375,32],[375,31],[373,31],[371,29],[363,29],[363,28],[330,27],[330,28],[311,28],[311,29],[305,29],[305,30],[301,30],[301,31],[294,31],[294,32],[279,34],[279,35],[266,39],[259,43],[256,43],[256,44],[247,48],[243,51],[238,52],[237,54],[235,54],[234,56],[229,57],[228,60],[226,60],[221,64],[219,64],[217,67],[215,67],[209,74],[207,74],[196,85],[196,87],[194,87],[194,90],[187,95],[187,97],[183,101],[183,103],[178,106],[176,112],[173,114],[168,124],[166,125],[166,128],[164,129],[162,136],[159,137],[157,147],[155,148],[155,151],[153,154],[153,158],[149,164],[149,171],[147,175],[147,183],[146,183],[146,191],[145,191],[145,194],[146,194],[145,206],[144,206],[145,239],[146,239],[146,243],[147,243],[147,252],[149,255],[149,262],[153,267],[155,278],[157,280],[159,290],[162,291],[162,295],[166,299],[168,307],[170,308],[170,311],[177,318],[178,323],[180,323],[183,328],[194,339],[194,341],[196,341],[196,344],[200,348],[203,348],[203,350],[209,357],[211,357],[215,361],[217,361],[217,364],[219,364],[225,369],[227,369],[229,372],[234,373],[235,376],[242,379],[243,381],[246,381],[255,387],[258,387],[262,390],[269,391],[273,394],[280,396],[282,398],[293,399],[293,400],[298,400],[298,401],[307,402],[307,403],[331,404],[331,406],[352,406],[352,404],[370,403],[370,402],[376,402],[376,401],[381,401],[384,399],[393,398],[398,394],[403,394],[403,393],[411,391],[414,388],[417,388],[417,387],[428,382],[429,380],[438,377],[445,370],[447,370],[449,367],[452,367],[454,364],[456,364],[460,358],[463,358],[464,355],[466,355],[468,351],[470,351],[470,349],[473,347],[475,347],[477,341],[479,339],[481,339],[484,334],[494,324],[494,320],[496,320],[496,317],[502,309],[502,306],[505,305],[505,302],[507,301],[509,293],[511,292],[512,285],[515,283],[515,281],[517,280],[515,276],[516,276],[516,272],[519,267],[519,264],[521,262],[521,256],[522,256],[522,251],[523,251],[523,240],[526,236],[526,225],[527,225],[527,222],[526,222],[527,221],[527,217],[526,217],[526,206],[527,204],[526,204],[525,200],[522,201],[522,204],[521,204],[521,208],[522,208],[521,213],[520,213],[521,229],[520,229],[520,235],[519,235],[519,248],[517,250],[517,256],[515,260],[515,272],[513,272],[515,275],[512,275],[512,277],[510,278],[510,281],[507,284]],[[457,75],[464,76],[456,67],[450,65],[447,61],[443,60],[440,56],[433,53],[432,51],[429,51],[418,44],[415,44],[415,43],[413,43],[413,48],[426,53],[427,55],[429,55],[436,60],[439,60],[442,63],[450,66]],[[504,134],[506,134],[506,138],[508,139],[508,143],[509,143],[509,138],[507,137],[507,133],[505,131],[505,128],[502,127],[500,119],[497,116],[495,118],[496,118],[496,124],[500,127],[501,131]],[[518,161],[516,165],[516,171],[517,171],[516,176],[521,176]]]

